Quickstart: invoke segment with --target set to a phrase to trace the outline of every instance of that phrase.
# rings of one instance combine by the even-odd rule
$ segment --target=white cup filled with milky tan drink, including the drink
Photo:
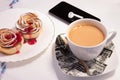
[[[87,18],[72,22],[66,33],[71,51],[81,60],[96,58],[115,36],[116,31],[108,32],[101,22]]]

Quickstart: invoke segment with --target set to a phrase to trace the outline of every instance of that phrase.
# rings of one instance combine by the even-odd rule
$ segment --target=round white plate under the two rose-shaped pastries
[[[36,56],[43,52],[51,43],[54,37],[54,26],[52,21],[46,15],[40,13],[37,10],[30,9],[10,9],[0,13],[0,28],[14,28],[16,21],[19,19],[21,14],[26,12],[33,12],[38,15],[42,21],[42,32],[37,38],[37,43],[34,45],[29,45],[27,43],[23,44],[20,53],[14,55],[4,55],[0,53],[1,62],[16,62],[21,60],[26,60]]]

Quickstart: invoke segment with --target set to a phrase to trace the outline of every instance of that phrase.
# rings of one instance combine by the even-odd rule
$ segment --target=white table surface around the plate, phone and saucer
[[[9,9],[12,0],[0,0],[0,11]],[[64,75],[53,59],[53,47],[58,34],[64,33],[68,25],[48,14],[48,10],[61,0],[19,0],[14,8],[29,8],[39,10],[49,16],[54,22],[55,37],[49,48],[37,57],[14,63],[7,63],[7,70],[2,80],[119,80],[120,60],[116,70],[93,78],[75,78]],[[99,17],[108,29],[115,29],[117,36],[114,44],[118,58],[120,57],[120,0],[64,0],[84,11]]]

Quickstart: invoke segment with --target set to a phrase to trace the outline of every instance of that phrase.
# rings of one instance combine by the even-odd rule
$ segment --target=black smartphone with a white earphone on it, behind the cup
[[[93,16],[65,1],[58,3],[49,10],[49,13],[61,20],[66,21],[67,23],[71,23],[80,18],[92,18],[101,21],[98,17]]]

